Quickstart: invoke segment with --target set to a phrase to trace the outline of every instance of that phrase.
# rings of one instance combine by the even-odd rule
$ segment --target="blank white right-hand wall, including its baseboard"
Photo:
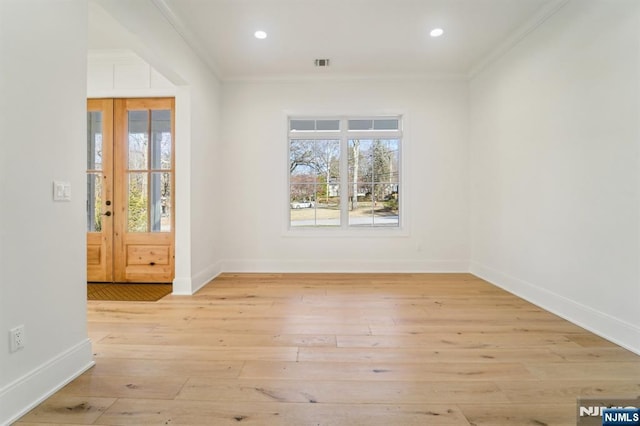
[[[638,353],[639,9],[572,0],[470,83],[471,271]]]

